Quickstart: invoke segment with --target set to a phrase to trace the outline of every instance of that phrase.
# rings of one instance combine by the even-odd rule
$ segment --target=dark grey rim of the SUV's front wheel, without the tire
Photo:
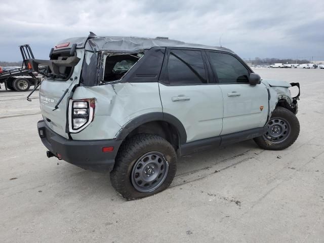
[[[263,136],[272,143],[282,142],[286,140],[290,134],[290,125],[284,118],[271,118],[267,126],[267,132]]]

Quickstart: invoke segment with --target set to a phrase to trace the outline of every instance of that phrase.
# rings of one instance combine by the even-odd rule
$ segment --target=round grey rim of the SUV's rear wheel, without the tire
[[[133,166],[131,179],[136,190],[150,192],[158,188],[168,175],[169,164],[160,152],[148,152]]]

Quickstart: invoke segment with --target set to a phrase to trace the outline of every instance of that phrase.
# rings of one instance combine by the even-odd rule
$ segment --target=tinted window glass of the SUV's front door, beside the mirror
[[[207,53],[219,83],[249,83],[250,72],[237,58],[226,53]]]

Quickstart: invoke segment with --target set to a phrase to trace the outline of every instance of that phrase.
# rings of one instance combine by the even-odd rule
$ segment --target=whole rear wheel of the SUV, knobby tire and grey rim
[[[121,196],[132,200],[165,190],[176,171],[177,154],[167,140],[137,134],[121,145],[110,180]]]

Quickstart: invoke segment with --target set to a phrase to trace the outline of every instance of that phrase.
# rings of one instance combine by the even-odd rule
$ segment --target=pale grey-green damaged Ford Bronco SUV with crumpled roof
[[[109,172],[126,199],[166,189],[179,156],[247,139],[281,150],[299,135],[298,96],[234,52],[165,37],[65,39],[39,89],[47,156]]]

